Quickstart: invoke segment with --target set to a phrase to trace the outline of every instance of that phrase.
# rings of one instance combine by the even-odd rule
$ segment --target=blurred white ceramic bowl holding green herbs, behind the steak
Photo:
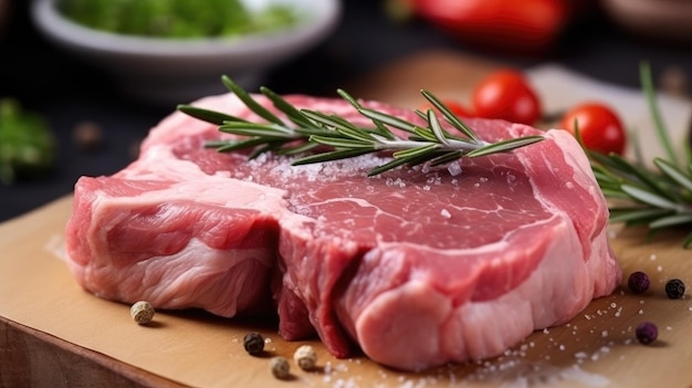
[[[107,70],[127,95],[156,104],[223,93],[221,75],[256,87],[266,71],[324,41],[342,12],[339,0],[244,0],[248,8],[291,4],[304,15],[303,22],[276,33],[175,40],[94,30],[60,14],[57,0],[33,1],[33,21],[50,41]]]

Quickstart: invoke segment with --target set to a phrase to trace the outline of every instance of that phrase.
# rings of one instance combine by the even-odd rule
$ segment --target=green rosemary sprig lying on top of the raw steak
[[[272,151],[279,155],[295,155],[293,165],[305,165],[390,151],[391,161],[368,171],[368,176],[375,176],[402,165],[430,162],[438,166],[462,157],[508,153],[543,139],[543,136],[525,136],[487,143],[479,138],[439,98],[427,91],[421,91],[423,97],[459,134],[447,130],[432,108],[416,112],[426,123],[424,126],[420,126],[401,117],[363,106],[348,93],[338,90],[337,93],[342,98],[373,123],[371,127],[364,127],[338,115],[297,108],[271,90],[260,87],[260,92],[285,115],[286,119],[282,119],[258,103],[230,77],[222,76],[221,81],[264,122],[252,123],[192,105],[179,105],[178,109],[218,125],[219,130],[223,133],[242,136],[241,139],[211,141],[207,144],[208,147],[222,153],[252,149],[250,158]],[[399,129],[407,136],[397,135],[390,128]]]

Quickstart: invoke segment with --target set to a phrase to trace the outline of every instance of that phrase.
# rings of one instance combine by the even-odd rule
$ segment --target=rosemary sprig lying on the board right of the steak
[[[668,228],[692,227],[692,162],[680,160],[671,146],[668,128],[661,116],[649,64],[640,64],[640,80],[654,129],[667,157],[656,157],[657,170],[641,160],[628,161],[610,154],[588,151],[591,168],[606,198],[611,199],[610,222],[647,226],[651,232]],[[688,150],[688,155],[690,151]],[[692,244],[692,231],[683,240]]]

